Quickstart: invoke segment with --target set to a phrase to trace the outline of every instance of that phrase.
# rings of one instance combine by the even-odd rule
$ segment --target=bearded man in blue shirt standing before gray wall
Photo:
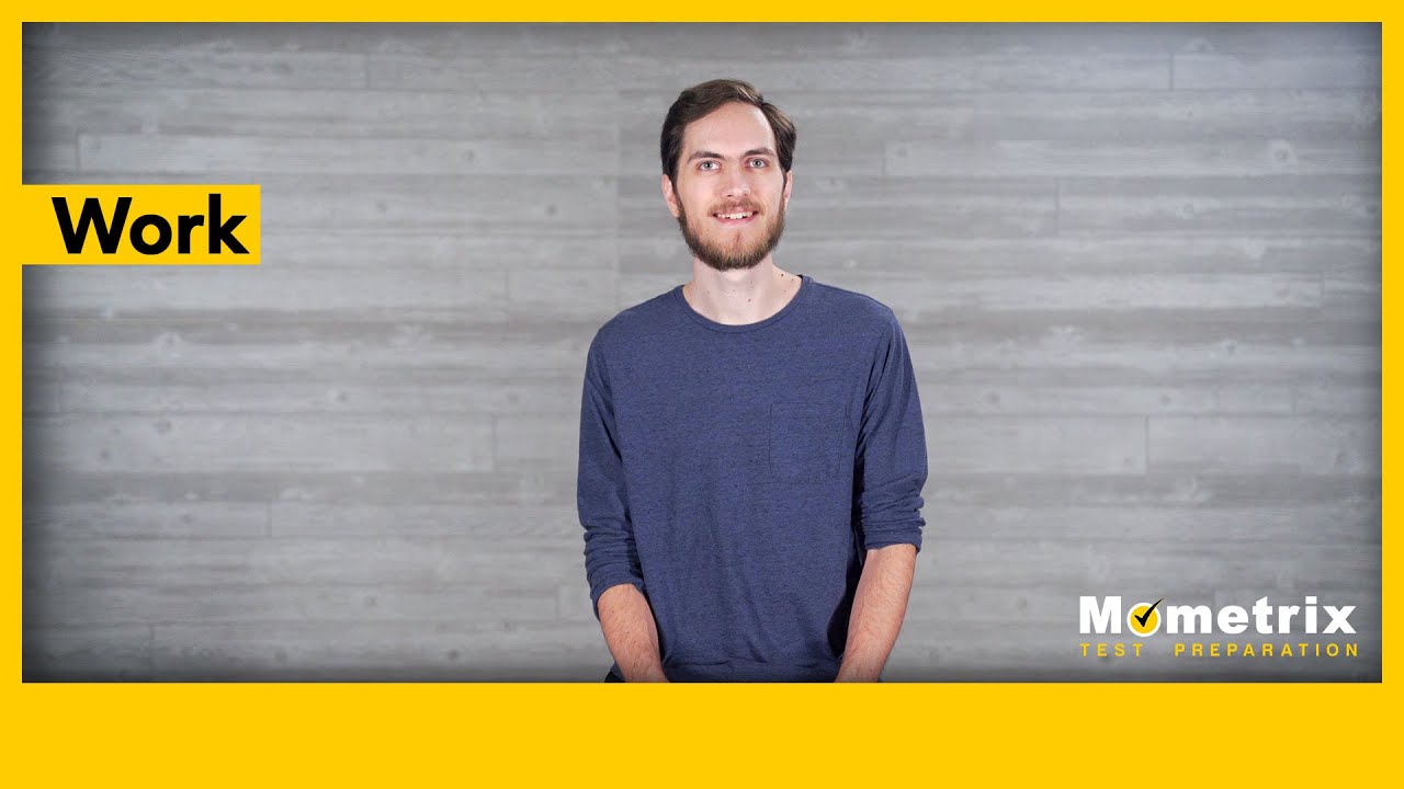
[[[901,628],[921,403],[890,309],[771,258],[795,138],[739,80],[682,91],[664,121],[692,279],[600,329],[581,403],[611,681],[878,681]]]

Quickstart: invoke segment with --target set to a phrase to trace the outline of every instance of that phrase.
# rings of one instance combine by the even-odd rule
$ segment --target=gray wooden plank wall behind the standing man
[[[264,263],[25,270],[25,675],[600,679],[585,348],[689,275],[716,76],[799,126],[776,261],[911,344],[889,679],[1379,678],[1377,25],[27,25],[25,181],[263,184]],[[1081,594],[1360,657],[1082,658]]]

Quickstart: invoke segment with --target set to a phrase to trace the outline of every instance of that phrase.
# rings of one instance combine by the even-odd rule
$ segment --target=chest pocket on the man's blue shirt
[[[789,482],[838,476],[844,434],[840,403],[772,403],[771,476]]]

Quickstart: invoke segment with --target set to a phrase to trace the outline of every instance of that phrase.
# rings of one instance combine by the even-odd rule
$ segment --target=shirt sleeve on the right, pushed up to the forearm
[[[907,338],[897,316],[889,312],[887,319],[858,431],[855,507],[865,549],[911,543],[920,552],[927,434]]]

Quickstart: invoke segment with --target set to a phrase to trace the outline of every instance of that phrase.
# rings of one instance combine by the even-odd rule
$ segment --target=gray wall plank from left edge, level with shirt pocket
[[[31,417],[37,469],[390,472],[493,469],[487,417],[171,414]]]

